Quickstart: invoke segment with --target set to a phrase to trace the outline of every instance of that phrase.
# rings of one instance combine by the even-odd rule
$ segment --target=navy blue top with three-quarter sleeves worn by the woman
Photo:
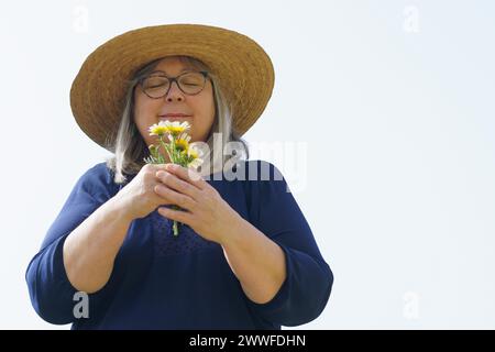
[[[263,179],[264,170],[271,177]],[[271,301],[256,304],[244,294],[221,245],[185,224],[174,238],[172,221],[155,210],[131,222],[109,282],[87,296],[89,317],[76,318],[74,308],[82,300],[64,268],[64,241],[125,186],[116,184],[113,173],[99,163],[78,179],[28,266],[36,312],[52,323],[73,323],[73,329],[279,330],[317,318],[329,299],[333,275],[285,178],[262,161],[240,162],[237,172],[245,179],[207,182],[284,251],[287,278]]]

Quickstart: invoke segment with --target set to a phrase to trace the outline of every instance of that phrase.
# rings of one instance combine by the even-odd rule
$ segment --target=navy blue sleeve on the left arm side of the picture
[[[75,320],[74,307],[80,300],[65,272],[63,248],[67,235],[111,197],[109,173],[105,163],[86,172],[74,186],[61,212],[50,227],[38,253],[28,265],[31,302],[44,320],[69,323]],[[88,295],[89,307],[98,293]]]

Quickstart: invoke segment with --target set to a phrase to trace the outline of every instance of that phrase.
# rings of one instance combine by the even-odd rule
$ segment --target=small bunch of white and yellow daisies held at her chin
[[[163,147],[173,164],[178,164],[184,167],[197,168],[202,164],[201,151],[195,146],[195,143],[189,143],[190,136],[186,133],[190,129],[190,124],[178,121],[160,121],[158,123],[150,127],[150,135],[156,135],[158,138],[158,145],[151,144],[148,146],[150,156],[144,161],[147,164],[165,164],[165,157],[160,153],[160,148]],[[165,143],[164,138],[168,136],[168,143]],[[172,209],[183,210],[180,207],[173,205]],[[174,235],[178,235],[178,223],[174,220]]]

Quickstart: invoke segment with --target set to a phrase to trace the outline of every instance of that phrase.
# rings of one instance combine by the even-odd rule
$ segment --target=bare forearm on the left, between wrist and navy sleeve
[[[105,286],[131,221],[119,200],[111,198],[67,237],[64,266],[75,288],[95,293]]]

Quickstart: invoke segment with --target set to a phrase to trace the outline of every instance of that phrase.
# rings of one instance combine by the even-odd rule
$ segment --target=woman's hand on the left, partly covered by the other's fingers
[[[172,205],[168,199],[156,193],[156,186],[166,187],[156,177],[156,172],[165,170],[167,164],[145,164],[138,175],[116,196],[129,220],[144,218],[160,206]]]

